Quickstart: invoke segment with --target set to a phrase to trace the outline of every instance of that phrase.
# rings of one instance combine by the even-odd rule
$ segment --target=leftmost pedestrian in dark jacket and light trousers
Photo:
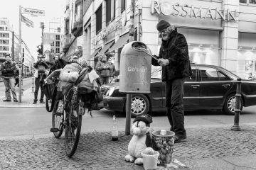
[[[15,88],[14,88],[14,76],[16,72],[16,64],[11,61],[11,55],[7,54],[5,56],[6,61],[1,67],[1,75],[4,79],[4,86],[6,87],[6,99],[3,101],[11,101],[11,93],[14,98],[14,102],[18,102]],[[11,93],[10,93],[11,90]]]

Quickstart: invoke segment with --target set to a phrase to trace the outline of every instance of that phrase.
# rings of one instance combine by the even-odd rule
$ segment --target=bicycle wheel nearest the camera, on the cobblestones
[[[78,99],[80,102],[81,99]],[[82,106],[76,104],[72,106],[67,113],[67,125],[65,127],[65,151],[68,157],[72,157],[75,154],[75,150],[78,147],[80,138],[81,126],[82,126]]]

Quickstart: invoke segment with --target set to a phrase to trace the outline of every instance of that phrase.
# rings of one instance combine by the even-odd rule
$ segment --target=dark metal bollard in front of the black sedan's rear
[[[235,94],[235,118],[234,118],[234,125],[231,128],[231,130],[237,130],[240,131],[240,125],[239,125],[239,117],[240,117],[240,99],[241,99],[241,78],[238,78],[237,81],[237,89]]]

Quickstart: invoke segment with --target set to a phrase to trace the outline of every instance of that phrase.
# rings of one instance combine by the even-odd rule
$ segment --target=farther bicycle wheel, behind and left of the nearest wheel
[[[64,109],[63,100],[55,101],[52,114],[53,128],[57,128],[58,132],[53,132],[54,137],[59,138],[63,133]]]

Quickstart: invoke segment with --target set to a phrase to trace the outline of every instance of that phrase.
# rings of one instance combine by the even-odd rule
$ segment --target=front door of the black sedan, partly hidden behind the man
[[[199,105],[200,82],[198,81],[198,70],[191,66],[192,76],[187,77],[184,82],[183,103],[185,108]]]

